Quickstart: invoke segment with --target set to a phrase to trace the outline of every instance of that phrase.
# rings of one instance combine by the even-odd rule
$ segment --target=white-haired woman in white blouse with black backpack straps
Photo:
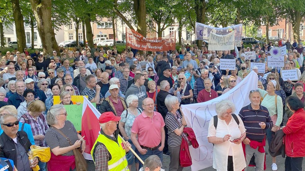
[[[235,106],[230,100],[220,101],[215,109],[217,117],[211,118],[207,136],[209,143],[214,144],[213,168],[217,171],[241,171],[246,167],[241,145],[246,134],[244,123],[238,114],[233,113]],[[217,123],[217,129],[214,123]]]

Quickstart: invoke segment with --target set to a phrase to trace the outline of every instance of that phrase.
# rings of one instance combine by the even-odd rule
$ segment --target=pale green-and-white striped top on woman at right
[[[282,123],[283,119],[283,103],[282,103],[282,98],[280,96],[277,96],[277,104],[275,105],[275,97],[276,96],[270,96],[267,94],[268,92],[265,90],[262,90],[258,88],[259,93],[261,96],[264,98],[262,100],[262,106],[265,106],[269,113],[270,116],[276,115],[277,114],[277,120],[276,120],[276,126],[280,126]],[[266,95],[267,94],[267,95]],[[266,96],[265,96],[266,95]]]

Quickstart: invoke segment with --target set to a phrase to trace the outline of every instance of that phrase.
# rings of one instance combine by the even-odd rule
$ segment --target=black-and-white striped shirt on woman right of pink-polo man
[[[182,115],[179,113],[179,122],[182,125]],[[167,113],[165,116],[165,126],[168,129],[168,146],[175,147],[182,143],[182,136],[177,135],[174,131],[179,129],[179,125],[172,114]]]

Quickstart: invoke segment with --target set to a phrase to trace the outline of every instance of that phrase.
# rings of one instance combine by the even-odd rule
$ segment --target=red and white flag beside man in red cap
[[[83,156],[87,160],[92,160],[91,149],[100,134],[101,127],[98,118],[101,113],[92,105],[92,103],[83,96],[83,114],[82,114],[82,136],[85,136],[86,149]]]

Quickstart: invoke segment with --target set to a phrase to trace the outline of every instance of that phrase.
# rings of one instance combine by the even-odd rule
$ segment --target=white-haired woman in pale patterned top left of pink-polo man
[[[139,103],[138,96],[134,94],[129,95],[126,99],[126,103],[128,108],[122,112],[121,120],[119,121],[119,129],[125,141],[130,139],[131,128],[135,118],[142,113],[142,110],[138,108],[138,103]],[[134,151],[137,151],[137,148],[132,143],[132,141],[130,141],[130,144],[131,144],[131,148]],[[133,157],[134,157],[133,153],[126,154],[129,170],[131,170],[131,167],[133,165]],[[137,160],[136,157],[135,157],[135,163],[136,163],[136,170],[139,170],[139,160]]]

